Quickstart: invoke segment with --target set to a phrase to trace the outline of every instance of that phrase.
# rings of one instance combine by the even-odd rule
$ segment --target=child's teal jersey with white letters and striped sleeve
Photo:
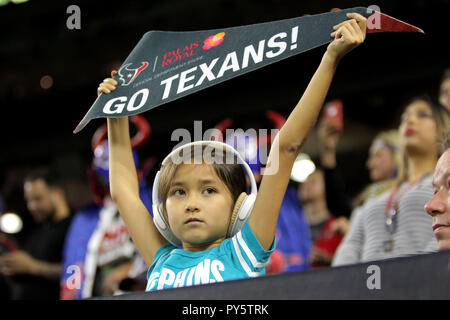
[[[272,248],[264,250],[248,221],[234,237],[205,251],[166,244],[158,249],[148,269],[145,291],[262,276],[274,249],[275,239]]]

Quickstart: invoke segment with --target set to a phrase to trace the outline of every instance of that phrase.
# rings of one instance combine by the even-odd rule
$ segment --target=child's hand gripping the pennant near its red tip
[[[347,17],[350,20],[333,27],[335,31],[331,33],[331,36],[334,40],[327,48],[327,53],[337,60],[363,43],[366,38],[367,19],[358,13],[347,13]]]

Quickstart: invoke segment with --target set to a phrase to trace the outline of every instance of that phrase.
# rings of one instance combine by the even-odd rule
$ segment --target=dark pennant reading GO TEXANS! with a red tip
[[[78,124],[131,116],[259,69],[333,40],[333,26],[356,12],[368,18],[367,33],[423,32],[364,7],[241,27],[144,34],[118,70],[118,85],[101,94]]]

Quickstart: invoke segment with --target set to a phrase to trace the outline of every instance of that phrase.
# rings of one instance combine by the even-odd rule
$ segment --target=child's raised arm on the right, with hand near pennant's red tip
[[[274,140],[258,196],[249,218],[249,224],[264,249],[272,245],[278,214],[284,193],[304,139],[314,126],[325,101],[339,60],[361,44],[366,35],[366,18],[351,13],[335,26],[319,67],[314,73],[300,101]]]

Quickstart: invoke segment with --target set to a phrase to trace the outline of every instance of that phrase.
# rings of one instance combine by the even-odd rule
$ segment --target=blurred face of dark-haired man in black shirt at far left
[[[36,222],[47,220],[55,213],[53,191],[44,180],[25,182],[24,195],[28,210]]]

